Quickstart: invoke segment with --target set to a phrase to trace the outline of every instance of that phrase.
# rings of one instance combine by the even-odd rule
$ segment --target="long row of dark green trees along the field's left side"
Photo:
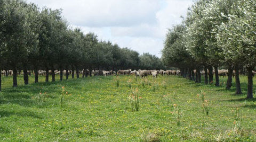
[[[17,87],[18,71],[23,70],[24,83],[29,83],[28,70],[45,70],[55,81],[54,70],[78,71],[89,69],[160,69],[161,59],[150,54],[121,48],[110,41],[99,41],[94,33],[84,34],[79,28],[70,28],[61,10],[39,8],[23,0],[0,1],[0,70],[13,70],[13,87]],[[50,73],[49,73],[50,70]],[[66,79],[68,79],[66,72]],[[1,74],[0,74],[1,91]]]

